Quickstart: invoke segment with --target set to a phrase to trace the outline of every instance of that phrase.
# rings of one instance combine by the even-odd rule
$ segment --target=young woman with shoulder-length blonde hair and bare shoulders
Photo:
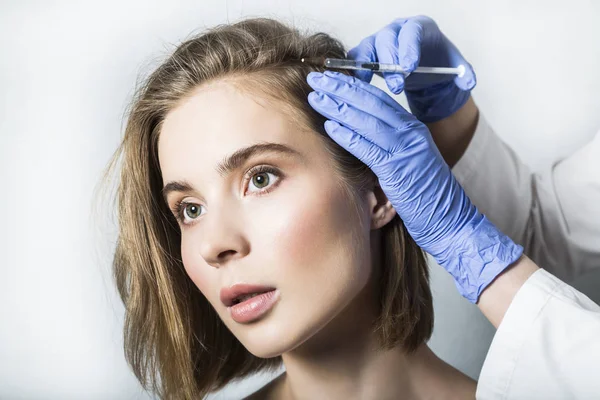
[[[345,51],[246,20],[181,44],[135,97],[114,271],[127,360],[161,398],[282,362],[253,398],[475,397],[426,345],[424,253],[307,101],[320,69],[300,59],[323,56]]]

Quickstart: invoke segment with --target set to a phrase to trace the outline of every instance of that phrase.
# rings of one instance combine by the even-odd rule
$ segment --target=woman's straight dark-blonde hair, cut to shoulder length
[[[161,398],[200,398],[281,363],[281,357],[261,359],[247,351],[185,272],[179,227],[161,196],[157,143],[167,113],[205,82],[244,76],[245,90],[281,100],[290,118],[322,138],[350,201],[376,182],[365,164],[329,138],[325,118],[308,104],[306,76],[322,69],[298,62],[302,57],[344,58],[345,51],[327,34],[304,35],[271,19],[221,25],[178,46],[134,96],[107,168],[108,176],[122,161],[113,269],[125,305],[126,359],[144,388]],[[381,311],[373,328],[383,348],[401,345],[412,352],[433,330],[426,258],[397,215],[381,237]]]

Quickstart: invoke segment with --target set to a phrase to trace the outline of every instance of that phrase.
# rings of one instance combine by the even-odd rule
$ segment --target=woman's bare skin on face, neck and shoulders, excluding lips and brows
[[[224,177],[215,171],[227,155],[261,142],[299,155],[263,154]],[[411,355],[400,347],[377,350],[373,249],[395,211],[374,186],[360,201],[359,218],[348,218],[352,205],[318,134],[274,102],[221,80],[171,110],[158,152],[165,184],[191,186],[171,192],[169,207],[198,207],[188,206],[180,223],[190,279],[251,353],[282,355],[287,372],[252,398],[474,398],[475,382],[425,344]],[[279,176],[259,173],[257,185],[247,171],[260,165]],[[276,287],[279,301],[260,320],[237,323],[219,297],[235,283]]]

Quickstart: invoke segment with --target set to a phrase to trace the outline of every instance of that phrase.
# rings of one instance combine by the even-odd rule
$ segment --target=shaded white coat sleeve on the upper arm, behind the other
[[[566,282],[600,268],[600,132],[537,174],[480,115],[452,172],[479,210],[540,267]]]

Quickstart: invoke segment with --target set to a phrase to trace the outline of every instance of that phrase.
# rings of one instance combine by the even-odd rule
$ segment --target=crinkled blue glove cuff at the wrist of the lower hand
[[[522,246],[479,215],[478,222],[466,226],[453,238],[452,246],[438,255],[432,254],[454,277],[460,294],[471,303],[477,303],[485,288],[523,254]]]

